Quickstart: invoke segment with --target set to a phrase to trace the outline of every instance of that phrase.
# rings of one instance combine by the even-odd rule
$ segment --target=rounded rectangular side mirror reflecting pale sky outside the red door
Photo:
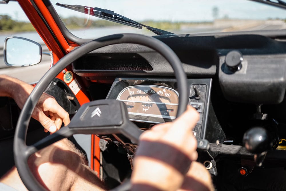
[[[42,60],[42,47],[27,38],[10,36],[3,47],[4,62],[7,66],[31,66]]]

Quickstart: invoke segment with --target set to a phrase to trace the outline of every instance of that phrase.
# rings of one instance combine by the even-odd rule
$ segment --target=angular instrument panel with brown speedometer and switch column
[[[200,119],[193,129],[196,139],[214,143],[212,157],[216,157],[225,134],[214,116],[210,101],[212,79],[188,79],[188,104],[196,108]],[[172,78],[116,78],[106,99],[126,104],[129,119],[141,129],[173,121],[178,109],[177,82]],[[178,127],[179,129],[179,127]],[[218,144],[217,144],[218,143]]]

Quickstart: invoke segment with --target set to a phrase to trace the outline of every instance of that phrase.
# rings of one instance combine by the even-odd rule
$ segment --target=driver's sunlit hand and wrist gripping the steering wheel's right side
[[[173,122],[155,125],[142,133],[134,159],[132,190],[180,188],[191,162],[198,157],[192,133],[198,120],[198,112],[188,106]]]

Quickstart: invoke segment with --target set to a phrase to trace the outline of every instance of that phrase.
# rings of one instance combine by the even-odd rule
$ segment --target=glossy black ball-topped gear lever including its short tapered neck
[[[253,127],[243,136],[243,144],[249,152],[254,154],[254,162],[257,166],[262,166],[267,151],[275,145],[275,140],[276,137],[262,127]]]

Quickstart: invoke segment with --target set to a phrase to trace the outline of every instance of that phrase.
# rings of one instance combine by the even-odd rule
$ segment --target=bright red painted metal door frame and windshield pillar
[[[41,0],[34,0],[35,5],[43,15],[45,21],[51,28],[53,34],[55,35],[55,38],[57,38],[57,41],[54,39],[53,35],[49,32],[49,29],[46,27],[45,23],[33,7],[32,3],[29,0],[18,0],[19,5],[22,7],[23,11],[27,15],[28,19],[31,21],[32,25],[35,27],[38,34],[41,36],[47,47],[50,51],[53,52],[53,58],[54,63],[59,61],[64,56],[64,53],[62,52],[62,49],[65,50],[65,54],[69,53],[71,50],[73,50],[73,46],[69,46],[66,39],[63,37],[59,27],[55,23],[53,17],[49,13],[47,7],[44,5],[44,3]],[[71,66],[68,66],[65,68],[65,71],[71,71]],[[57,78],[63,79],[63,72],[57,75]],[[73,75],[74,79],[76,75]],[[77,78],[78,82],[80,84],[83,84],[82,80],[80,78]],[[68,84],[67,84],[68,85]],[[83,85],[81,85],[84,87]],[[78,94],[76,95],[76,98],[78,99],[80,105],[83,105],[84,103],[89,102],[90,100],[86,96],[85,90],[80,90]],[[92,135],[92,148],[91,148],[91,168],[98,173],[100,172],[100,148],[99,148],[99,138],[97,136]]]

